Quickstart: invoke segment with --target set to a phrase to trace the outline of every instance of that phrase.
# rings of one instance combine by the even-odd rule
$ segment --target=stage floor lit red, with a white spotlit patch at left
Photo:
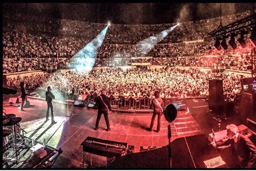
[[[28,98],[32,107],[24,108],[11,106],[8,100],[4,100],[3,107],[6,113],[14,113],[21,117],[20,126],[27,131],[27,137],[38,142],[44,139],[47,145],[61,148],[60,154],[52,168],[81,168],[83,152],[81,143],[88,136],[108,139],[117,142],[126,142],[135,146],[135,152],[139,152],[141,146],[164,146],[168,144],[167,127],[168,122],[164,116],[161,117],[161,131],[156,132],[157,120],[155,120],[153,131],[146,131],[151,121],[151,113],[118,113],[112,112],[110,120],[111,131],[106,131],[104,116],[100,119],[99,129],[96,131],[95,122],[97,110],[87,107],[69,106],[54,103],[55,125],[50,125],[51,120],[45,122],[46,103],[41,99]],[[171,123],[172,140],[176,138],[211,133],[225,129],[229,123],[240,125],[239,117],[232,116],[222,122],[213,119],[204,99],[187,99],[187,111],[178,111],[177,118]],[[220,125],[219,125],[220,123]],[[86,153],[85,164],[89,164],[89,153]],[[106,165],[106,157],[92,154],[92,166],[102,167]]]

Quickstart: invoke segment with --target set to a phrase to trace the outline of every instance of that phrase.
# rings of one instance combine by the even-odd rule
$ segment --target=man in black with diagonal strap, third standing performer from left
[[[108,120],[108,114],[111,112],[110,99],[106,97],[106,89],[102,90],[102,94],[96,98],[96,106],[98,105],[98,115],[96,120],[95,130],[98,130],[99,120],[102,114],[107,125],[107,131],[110,130],[110,121]]]

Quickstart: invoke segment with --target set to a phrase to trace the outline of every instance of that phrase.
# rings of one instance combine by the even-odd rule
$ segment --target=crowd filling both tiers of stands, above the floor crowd
[[[228,15],[223,18],[223,25],[249,14],[250,12]],[[238,50],[229,48],[223,52],[213,48],[214,40],[197,42],[215,29],[218,20],[219,18],[212,18],[182,22],[143,56],[154,58],[150,59],[152,65],[213,67],[211,62],[205,64],[200,61],[204,62],[206,55],[223,56],[223,53],[227,53],[243,57],[245,53],[246,58],[236,59],[230,62],[228,67],[249,71],[251,64],[248,50],[238,46]],[[104,24],[76,20],[38,19],[26,14],[4,15],[3,22],[3,73],[33,71],[45,69],[47,66],[57,66],[58,69],[70,68],[73,65],[70,58],[105,27]],[[33,27],[35,23],[36,27]],[[142,57],[136,50],[136,43],[173,25],[111,25],[102,46],[97,50],[95,66],[129,65],[131,57]],[[52,33],[55,29],[58,29],[58,34],[57,31]],[[186,41],[196,42],[185,43]],[[117,64],[114,58],[121,58],[121,61]],[[226,59],[228,58],[225,57],[224,64],[227,64]],[[215,61],[210,58],[207,60]],[[140,62],[140,59],[137,61]]]

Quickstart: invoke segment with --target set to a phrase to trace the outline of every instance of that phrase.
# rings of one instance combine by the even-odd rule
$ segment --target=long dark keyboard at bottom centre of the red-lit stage
[[[94,137],[87,137],[81,144],[84,152],[105,157],[120,157],[126,154],[127,143],[109,141]]]

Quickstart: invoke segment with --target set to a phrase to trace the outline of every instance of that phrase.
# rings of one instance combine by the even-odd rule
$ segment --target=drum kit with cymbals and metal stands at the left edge
[[[26,133],[26,131],[19,125],[19,122],[22,120],[20,117],[16,117],[15,114],[6,114],[4,111],[3,114],[3,154],[9,153],[10,151],[14,151],[16,154],[16,159],[3,157],[3,160],[18,164],[19,148],[28,147],[25,145],[24,139],[24,133]]]

